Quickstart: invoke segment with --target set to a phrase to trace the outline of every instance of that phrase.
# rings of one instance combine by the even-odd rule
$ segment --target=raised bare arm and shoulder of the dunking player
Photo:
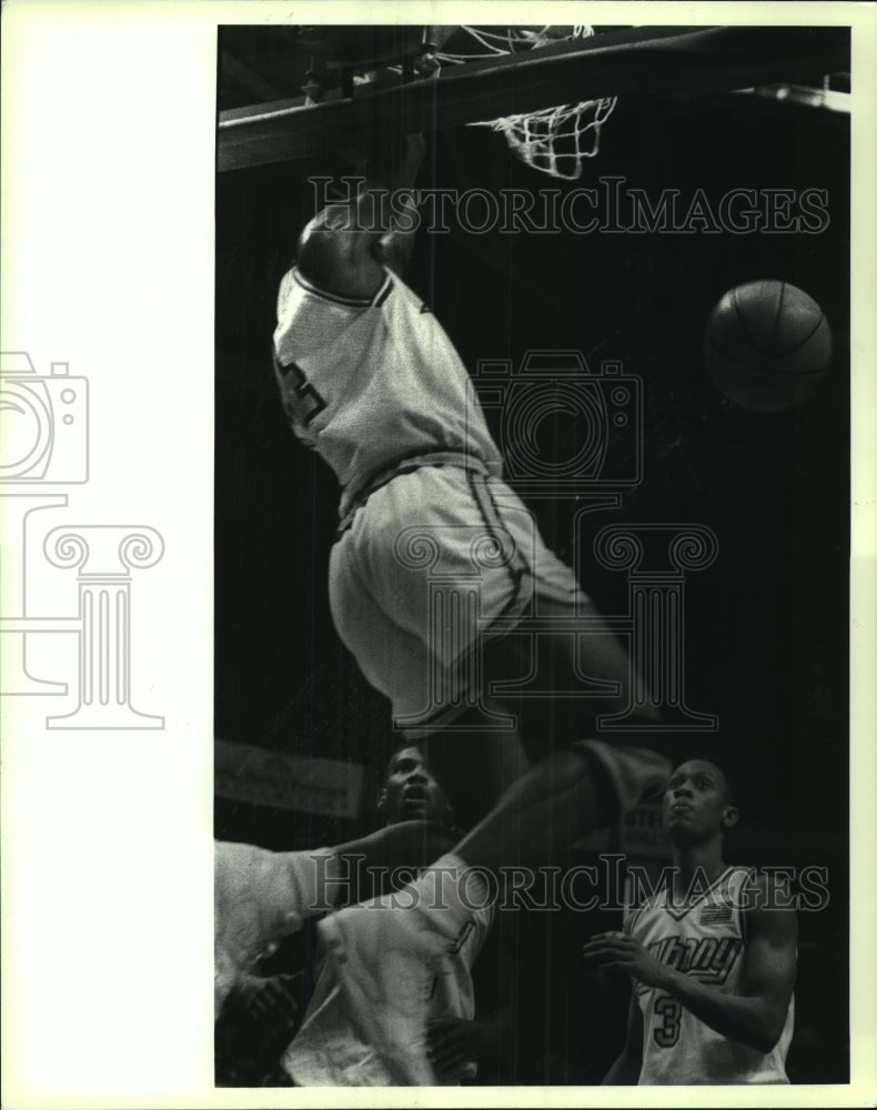
[[[311,220],[299,239],[296,265],[303,278],[341,296],[377,292],[383,265],[395,269],[413,245],[412,233],[393,229],[386,193],[413,184],[424,150],[421,135],[409,135],[397,162],[373,157],[355,202],[327,204]]]

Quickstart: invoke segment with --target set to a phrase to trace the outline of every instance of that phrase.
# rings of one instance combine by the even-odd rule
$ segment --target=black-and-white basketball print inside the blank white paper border
[[[218,84],[216,1083],[846,1083],[849,29]]]

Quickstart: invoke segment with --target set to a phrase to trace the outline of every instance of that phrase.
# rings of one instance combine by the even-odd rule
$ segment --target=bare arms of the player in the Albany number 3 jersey
[[[736,993],[719,991],[662,963],[638,941],[624,934],[595,937],[585,946],[584,957],[586,962],[619,968],[632,979],[665,991],[722,1036],[759,1052],[769,1052],[783,1032],[796,970],[795,914],[776,907],[776,900],[767,889],[765,877],[759,876],[753,890],[754,905],[746,911],[747,944]],[[634,1066],[638,1073],[642,1050],[642,1016],[634,995],[627,1043],[605,1081],[629,1081]]]

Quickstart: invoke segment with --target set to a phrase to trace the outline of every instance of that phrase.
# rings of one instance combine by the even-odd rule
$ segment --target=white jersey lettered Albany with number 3
[[[685,908],[662,891],[632,912],[626,931],[663,963],[734,995],[746,952],[744,891],[753,876],[748,868],[728,868]],[[635,989],[643,1011],[641,1084],[788,1082],[794,999],[778,1042],[765,1053],[710,1029],[659,989],[641,982]]]

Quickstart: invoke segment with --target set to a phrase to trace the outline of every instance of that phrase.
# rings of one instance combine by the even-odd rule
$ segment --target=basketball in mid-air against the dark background
[[[755,412],[808,401],[828,374],[831,329],[803,290],[753,281],[722,296],[706,323],[704,357],[716,389]]]

